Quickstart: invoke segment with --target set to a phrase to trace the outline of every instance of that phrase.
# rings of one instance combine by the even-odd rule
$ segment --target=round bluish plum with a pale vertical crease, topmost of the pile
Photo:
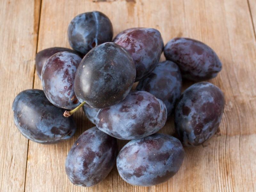
[[[85,12],[77,15],[68,26],[70,46],[83,54],[93,47],[110,42],[113,37],[111,21],[101,12]]]

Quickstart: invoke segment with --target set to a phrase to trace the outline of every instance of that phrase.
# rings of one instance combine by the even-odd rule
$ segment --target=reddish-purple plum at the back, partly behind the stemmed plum
[[[163,49],[163,39],[153,28],[132,28],[118,34],[113,42],[124,47],[136,67],[136,80],[148,76],[156,67]]]

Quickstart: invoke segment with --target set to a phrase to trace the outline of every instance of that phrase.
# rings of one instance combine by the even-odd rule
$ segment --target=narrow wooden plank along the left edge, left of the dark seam
[[[28,140],[13,122],[12,101],[33,87],[40,1],[0,1],[0,191],[24,191]]]

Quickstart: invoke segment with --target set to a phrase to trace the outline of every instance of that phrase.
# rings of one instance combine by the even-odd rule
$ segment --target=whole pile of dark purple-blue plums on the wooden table
[[[73,50],[52,47],[36,54],[43,90],[16,96],[14,122],[29,140],[57,143],[74,135],[71,115],[83,106],[96,126],[68,153],[71,182],[95,185],[116,164],[126,182],[157,185],[178,172],[183,146],[201,145],[216,133],[224,95],[198,81],[217,76],[222,64],[209,46],[193,39],[174,38],[164,46],[154,28],[130,28],[112,37],[103,13],[77,15],[68,27]],[[163,51],[167,60],[159,62]],[[198,83],[181,94],[182,78]],[[132,91],[134,82],[138,86]],[[178,139],[156,133],[172,114]],[[118,151],[116,138],[131,141]]]

